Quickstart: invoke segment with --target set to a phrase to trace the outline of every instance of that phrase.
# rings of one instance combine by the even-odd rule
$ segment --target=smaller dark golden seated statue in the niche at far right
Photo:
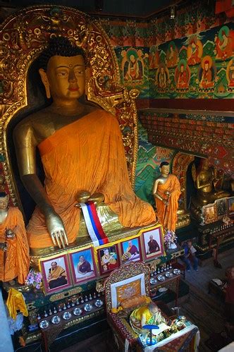
[[[191,199],[191,213],[196,219],[201,219],[202,207],[214,203],[216,199],[228,197],[230,193],[218,189],[214,168],[209,166],[208,159],[201,159],[197,169],[192,166],[192,178],[195,181],[197,193]]]

